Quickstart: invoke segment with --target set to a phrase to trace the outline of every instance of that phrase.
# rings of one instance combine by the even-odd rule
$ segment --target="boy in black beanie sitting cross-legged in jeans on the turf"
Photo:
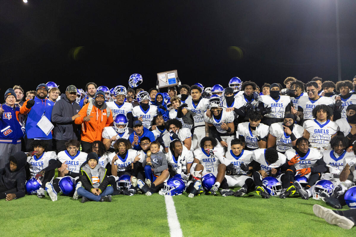
[[[87,156],[87,164],[80,169],[80,182],[82,187],[78,188],[78,194],[83,196],[82,203],[86,201],[111,201],[114,189],[108,186],[106,169],[99,164],[98,154],[90,152]]]

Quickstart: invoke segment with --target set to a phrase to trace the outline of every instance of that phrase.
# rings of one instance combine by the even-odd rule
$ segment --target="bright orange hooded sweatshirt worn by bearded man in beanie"
[[[93,142],[96,140],[101,140],[101,133],[103,128],[110,126],[114,121],[112,119],[112,112],[110,110],[110,116],[106,115],[106,103],[104,102],[103,107],[99,109],[96,102],[93,102],[93,109],[91,110],[90,118],[88,122],[84,122],[84,117],[87,116],[89,103],[85,104],[82,109],[80,109],[80,117],[74,120],[75,124],[82,124],[82,134],[81,140],[86,142]]]

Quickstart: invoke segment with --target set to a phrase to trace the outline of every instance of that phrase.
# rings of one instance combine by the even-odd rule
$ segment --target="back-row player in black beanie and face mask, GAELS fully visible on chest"
[[[257,109],[261,111],[263,123],[271,126],[272,123],[283,122],[284,114],[290,113],[293,104],[290,102],[289,96],[280,96],[281,89],[277,83],[269,86],[269,95],[262,95],[258,98]],[[266,113],[266,108],[271,108],[269,113]]]

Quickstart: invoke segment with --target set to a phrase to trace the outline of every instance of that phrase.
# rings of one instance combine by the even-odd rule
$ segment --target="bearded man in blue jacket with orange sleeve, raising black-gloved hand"
[[[37,126],[37,123],[42,118],[42,115],[51,121],[52,108],[54,103],[47,98],[48,86],[40,84],[36,89],[36,97],[25,101],[20,108],[21,114],[27,114],[26,120],[26,151],[31,151],[30,143],[33,140],[44,140],[48,143],[48,150],[52,150],[52,133],[46,135],[42,129]]]

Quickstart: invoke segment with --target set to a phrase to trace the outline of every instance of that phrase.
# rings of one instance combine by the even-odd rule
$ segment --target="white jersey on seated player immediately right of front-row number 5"
[[[229,165],[229,163],[234,164],[234,169],[232,170],[232,174],[246,174],[240,168],[241,163],[245,163],[247,166],[252,162],[252,151],[242,150],[239,156],[235,156],[232,150],[226,152],[226,158],[224,158],[225,165]]]

